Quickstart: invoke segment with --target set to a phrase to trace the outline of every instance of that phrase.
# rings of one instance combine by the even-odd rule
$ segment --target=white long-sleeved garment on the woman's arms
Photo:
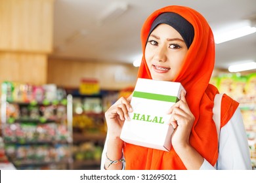
[[[108,135],[106,137],[108,141]],[[104,169],[106,159],[106,144],[102,152],[100,169]],[[219,135],[219,158],[217,159],[218,170],[251,170],[251,159],[249,144],[244,128],[244,122],[240,108],[236,109],[230,121],[221,128]],[[200,170],[215,170],[206,159],[204,159]]]

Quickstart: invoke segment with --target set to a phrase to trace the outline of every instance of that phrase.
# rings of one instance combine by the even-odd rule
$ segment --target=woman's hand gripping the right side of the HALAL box
[[[168,111],[168,114],[171,114],[169,123],[175,129],[171,139],[175,151],[190,146],[189,138],[195,120],[194,115],[188,107],[188,103],[186,103],[185,95],[185,91],[182,90],[180,101],[175,103]]]

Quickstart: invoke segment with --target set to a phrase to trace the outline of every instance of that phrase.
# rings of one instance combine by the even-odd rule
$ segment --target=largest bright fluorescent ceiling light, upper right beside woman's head
[[[256,32],[256,27],[245,26],[239,29],[234,29],[232,31],[228,31],[225,33],[220,33],[215,35],[215,43],[220,44],[222,42],[230,41],[232,39],[237,39],[239,37],[243,37],[245,35],[249,35]]]

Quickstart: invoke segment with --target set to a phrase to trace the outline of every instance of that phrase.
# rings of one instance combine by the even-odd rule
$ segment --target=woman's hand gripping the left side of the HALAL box
[[[125,120],[131,120],[128,112],[133,112],[133,108],[130,104],[132,95],[133,94],[127,99],[125,97],[119,98],[116,103],[105,112],[108,135],[111,139],[119,139],[123,123]]]

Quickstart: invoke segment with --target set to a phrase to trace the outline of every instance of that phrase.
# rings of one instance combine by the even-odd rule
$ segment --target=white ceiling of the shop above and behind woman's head
[[[114,5],[127,10],[114,20],[102,16]],[[208,20],[213,33],[248,23],[256,14],[256,0],[55,0],[54,52],[51,57],[133,63],[140,58],[140,29],[156,9],[167,5],[192,7]],[[215,67],[256,61],[256,33],[216,44]]]

